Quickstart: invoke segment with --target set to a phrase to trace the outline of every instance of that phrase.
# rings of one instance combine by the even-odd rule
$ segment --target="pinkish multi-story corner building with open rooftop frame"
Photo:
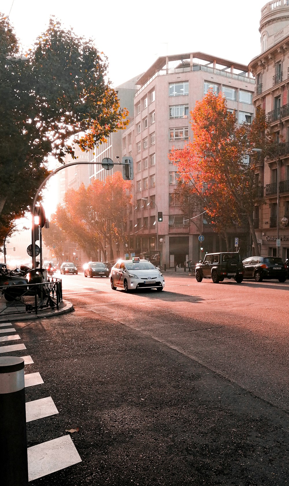
[[[205,251],[219,248],[219,236],[202,216],[198,229],[185,219],[174,198],[177,167],[168,154],[173,146],[183,147],[192,137],[190,111],[209,88],[222,91],[229,110],[236,110],[238,122],[254,117],[252,99],[255,79],[248,67],[202,52],[159,57],[137,80],[140,88],[134,100],[134,120],[122,133],[122,155],[134,159],[135,204],[130,215],[129,251],[136,256],[161,254],[167,266],[184,265]],[[163,221],[157,221],[157,212]],[[200,231],[204,241],[200,244]],[[230,234],[234,246],[236,230]],[[242,238],[240,239],[242,240]],[[245,240],[245,236],[243,238]]]

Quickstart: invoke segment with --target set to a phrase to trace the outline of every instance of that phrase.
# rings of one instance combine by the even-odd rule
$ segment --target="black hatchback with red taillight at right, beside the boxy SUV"
[[[281,258],[278,257],[250,257],[243,260],[244,278],[255,278],[262,282],[263,278],[277,278],[285,282],[287,270]]]

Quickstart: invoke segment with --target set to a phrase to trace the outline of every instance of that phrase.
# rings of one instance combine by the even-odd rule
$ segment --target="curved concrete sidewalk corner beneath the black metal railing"
[[[15,322],[31,319],[41,319],[43,317],[51,317],[59,314],[66,314],[73,312],[74,308],[71,302],[64,300],[59,304],[59,309],[47,307],[37,311],[25,312],[26,303],[21,301],[7,302],[3,295],[0,295],[0,322]]]

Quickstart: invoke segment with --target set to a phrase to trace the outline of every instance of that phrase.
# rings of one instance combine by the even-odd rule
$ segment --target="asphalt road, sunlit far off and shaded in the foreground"
[[[27,424],[29,446],[78,427],[82,462],[34,485],[289,482],[289,283],[167,274],[126,295],[79,274],[63,289],[74,313],[15,327],[44,381],[27,400],[59,411]]]

